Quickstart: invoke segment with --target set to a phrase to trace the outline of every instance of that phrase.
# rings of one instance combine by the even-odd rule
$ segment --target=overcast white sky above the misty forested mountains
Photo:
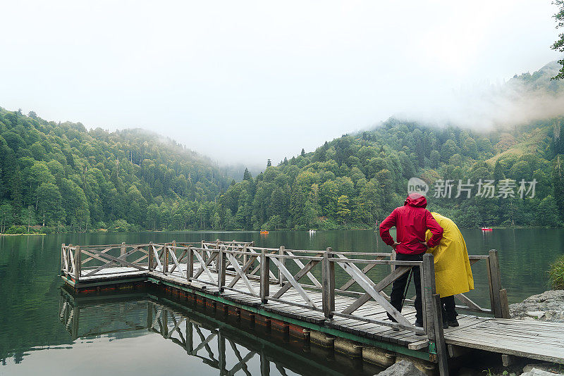
[[[0,106],[278,163],[558,58],[550,0],[6,1]]]

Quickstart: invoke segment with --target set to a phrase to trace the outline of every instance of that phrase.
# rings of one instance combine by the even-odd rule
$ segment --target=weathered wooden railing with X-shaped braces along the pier
[[[486,256],[470,256],[471,265],[479,261],[485,261],[486,264],[491,307],[482,308],[465,294],[456,295],[464,304],[457,307],[491,314],[496,318],[507,318],[507,293],[501,288],[497,251],[491,250]],[[263,304],[274,301],[307,308],[323,313],[326,320],[333,317],[352,318],[410,330],[426,335],[437,346],[444,344],[441,303],[436,294],[434,260],[430,253],[424,255],[423,261],[396,261],[391,253],[339,252],[331,248],[324,251],[292,250],[284,246],[264,248],[255,246],[254,242],[219,240],[84,247],[63,244],[61,247],[61,272],[74,280],[115,274],[116,267],[125,268],[123,272],[142,271],[212,285],[220,294],[226,290],[237,292],[259,299]],[[384,277],[379,280],[369,276],[374,276],[372,269],[376,267],[384,268]],[[412,325],[405,315],[394,308],[384,292],[386,287],[415,267],[421,268],[422,329]],[[348,275],[347,282],[339,287],[336,287],[336,272]],[[231,276],[229,280],[226,279],[227,275]],[[240,281],[243,285],[238,284]],[[278,288],[271,293],[274,284]],[[360,291],[352,291],[353,286]],[[351,303],[348,299],[343,306],[343,302],[336,304],[338,296],[352,296],[355,300]],[[359,314],[360,308],[368,301],[379,303],[396,322]]]

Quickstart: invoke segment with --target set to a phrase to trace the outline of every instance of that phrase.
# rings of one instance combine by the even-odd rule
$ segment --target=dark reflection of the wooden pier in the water
[[[203,375],[374,375],[381,371],[376,365],[310,345],[240,315],[151,292],[74,296],[61,288],[59,320],[73,341],[160,334],[180,346],[186,356],[207,365]],[[127,351],[123,356],[127,358]],[[176,362],[179,368],[182,363]],[[186,371],[178,373],[193,374]]]

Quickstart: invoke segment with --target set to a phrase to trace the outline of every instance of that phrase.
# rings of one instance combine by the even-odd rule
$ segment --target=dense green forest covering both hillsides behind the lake
[[[555,67],[508,85],[562,94],[549,80]],[[88,131],[0,108],[0,232],[367,228],[403,203],[410,177],[431,187],[429,209],[460,227],[559,226],[560,135],[562,117],[488,132],[391,118],[235,182],[233,168],[157,134]],[[479,195],[486,180],[495,195]],[[532,180],[534,196],[530,184],[518,191]],[[498,195],[510,181],[514,194]],[[451,182],[452,194],[434,194],[436,182]],[[473,185],[456,197],[460,182]]]

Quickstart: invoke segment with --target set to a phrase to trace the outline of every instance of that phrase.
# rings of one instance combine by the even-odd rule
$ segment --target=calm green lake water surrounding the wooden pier
[[[503,287],[510,303],[548,289],[546,270],[564,254],[564,230],[517,229],[462,230],[468,251],[473,255],[498,249]],[[329,358],[308,352],[302,344],[260,335],[244,323],[214,318],[196,307],[178,307],[164,297],[138,293],[134,296],[107,297],[88,303],[81,311],[78,338],[66,325],[68,313],[59,317],[61,304],[72,297],[61,291],[59,274],[61,243],[116,244],[145,242],[199,242],[202,239],[254,240],[258,246],[287,249],[326,249],[336,251],[385,251],[374,231],[327,231],[312,236],[307,232],[140,232],[114,234],[56,234],[47,236],[0,237],[0,375],[101,375],[198,374],[217,375],[217,362],[226,369],[236,367],[241,359],[245,367],[237,374],[260,375],[261,367],[270,375],[374,375],[374,368],[351,363],[347,358]],[[376,279],[386,270],[374,268]],[[469,296],[488,306],[489,295],[485,264],[473,267],[476,290]],[[344,281],[343,275],[337,279]],[[339,281],[338,281],[339,282]],[[338,283],[337,283],[338,284]],[[179,341],[165,339],[148,330],[148,311],[170,311],[172,323],[178,312],[198,322],[193,329],[194,346],[210,338],[196,355],[188,355]],[[180,317],[180,316],[178,316]],[[176,320],[176,319],[175,319]],[[188,319],[185,322],[190,321]],[[183,336],[188,332],[181,326]],[[223,329],[223,327],[225,328]],[[220,336],[214,331],[222,327]],[[201,334],[201,335],[200,335]],[[178,334],[179,335],[179,334]],[[178,337],[178,336],[177,336]],[[218,338],[219,337],[219,338]],[[225,349],[218,351],[218,349]],[[223,353],[220,356],[219,353]],[[261,361],[261,358],[263,359]],[[360,368],[359,368],[360,367]]]

